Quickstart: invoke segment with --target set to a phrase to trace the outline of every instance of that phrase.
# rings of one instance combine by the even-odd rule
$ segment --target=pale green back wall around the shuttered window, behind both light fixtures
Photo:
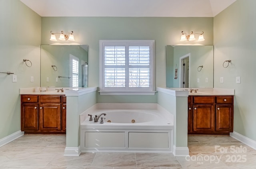
[[[180,44],[181,31],[202,32],[213,45],[213,18],[170,17],[42,17],[42,44],[52,44],[50,31],[74,31],[76,43],[88,50],[88,86],[99,86],[99,40],[155,40],[156,86],[166,86],[166,45]],[[59,41],[58,41],[59,42]],[[66,42],[64,42],[66,43]],[[183,44],[197,43],[182,42]],[[98,102],[156,102],[155,96],[101,96]]]

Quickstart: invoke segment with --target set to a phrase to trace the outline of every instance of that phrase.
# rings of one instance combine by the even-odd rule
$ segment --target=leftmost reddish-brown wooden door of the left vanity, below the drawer
[[[21,104],[21,131],[38,130],[38,104]]]

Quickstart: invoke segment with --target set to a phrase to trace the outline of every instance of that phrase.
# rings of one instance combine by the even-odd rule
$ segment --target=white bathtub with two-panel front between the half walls
[[[173,115],[159,105],[153,105],[150,109],[130,109],[129,106],[123,106],[129,109],[113,109],[115,106],[106,109],[97,105],[97,108],[85,111],[80,115],[81,152],[171,153]],[[101,116],[105,118],[103,124],[100,119],[89,121],[88,114],[94,117],[102,113],[106,114]]]

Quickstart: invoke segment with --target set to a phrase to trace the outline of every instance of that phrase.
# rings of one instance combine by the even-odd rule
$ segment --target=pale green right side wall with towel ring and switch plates
[[[256,141],[256,1],[237,0],[214,17],[214,87],[234,88],[234,131]],[[222,64],[231,59],[225,69]],[[224,77],[224,83],[220,83]],[[241,83],[236,84],[236,77]]]

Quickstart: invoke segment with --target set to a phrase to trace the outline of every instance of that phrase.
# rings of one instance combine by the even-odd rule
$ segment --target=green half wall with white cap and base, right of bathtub
[[[189,155],[188,149],[188,90],[180,88],[157,88],[158,104],[174,116],[173,154],[176,157]]]

